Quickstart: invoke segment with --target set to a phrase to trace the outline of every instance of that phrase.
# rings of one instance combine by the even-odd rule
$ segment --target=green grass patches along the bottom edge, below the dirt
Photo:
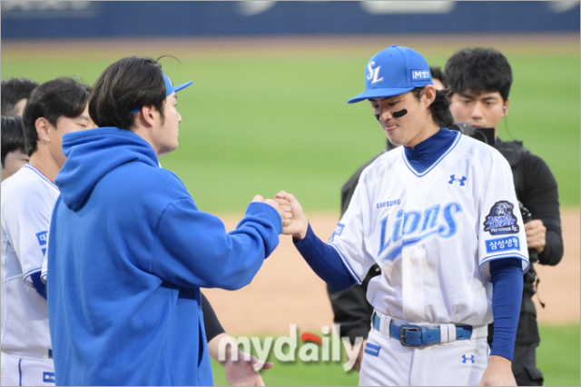
[[[579,385],[579,325],[540,327],[541,345],[537,348],[537,367],[544,373],[547,386]],[[276,340],[276,339],[275,339]],[[340,362],[274,362],[271,370],[261,372],[266,385],[333,386],[357,385],[358,372],[343,371]],[[222,365],[212,360],[215,385],[227,385]]]

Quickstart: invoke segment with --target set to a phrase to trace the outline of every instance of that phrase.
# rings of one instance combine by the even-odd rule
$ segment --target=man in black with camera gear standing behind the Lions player
[[[513,79],[507,58],[492,48],[465,48],[448,59],[445,74],[454,121],[495,130],[494,146],[510,164],[517,200],[525,207],[521,208],[521,212],[527,232],[530,263],[556,265],[563,257],[563,238],[555,176],[543,159],[527,151],[522,141],[505,142],[497,136],[498,125],[508,114],[508,94]],[[540,343],[537,310],[533,303],[537,284],[535,266],[531,264],[524,275],[512,362],[518,385],[543,384],[543,374],[537,369],[536,354]],[[490,345],[493,329],[494,324],[490,324]]]

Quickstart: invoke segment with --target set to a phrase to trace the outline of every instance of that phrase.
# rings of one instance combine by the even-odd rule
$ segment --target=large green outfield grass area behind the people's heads
[[[416,47],[428,63],[445,65],[458,46]],[[473,44],[476,45],[476,44]],[[364,67],[380,47],[290,51],[203,51],[156,47],[95,51],[90,45],[44,53],[2,50],[2,79],[38,82],[77,75],[92,84],[124,55],[176,55],[162,64],[175,84],[193,80],[179,94],[180,147],[162,157],[199,208],[242,212],[256,193],[294,193],[307,211],[339,212],[340,186],[385,146],[367,103],[346,101],[364,88]],[[422,49],[425,48],[425,49]],[[514,138],[546,161],[563,205],[579,205],[579,45],[547,55],[537,46],[501,50],[513,68],[507,124],[499,136]],[[281,51],[283,54],[281,54]],[[272,53],[272,54],[270,54]]]

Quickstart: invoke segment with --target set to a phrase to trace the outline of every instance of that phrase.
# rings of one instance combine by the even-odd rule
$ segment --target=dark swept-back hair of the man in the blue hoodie
[[[149,57],[127,56],[107,67],[94,83],[89,114],[99,127],[132,130],[140,106],[155,107],[162,117],[165,82],[162,65]]]

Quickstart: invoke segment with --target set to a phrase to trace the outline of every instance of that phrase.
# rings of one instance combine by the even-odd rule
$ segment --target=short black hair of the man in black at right
[[[446,81],[451,93],[494,93],[507,101],[512,70],[505,55],[493,48],[464,48],[450,56],[446,64]]]

